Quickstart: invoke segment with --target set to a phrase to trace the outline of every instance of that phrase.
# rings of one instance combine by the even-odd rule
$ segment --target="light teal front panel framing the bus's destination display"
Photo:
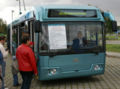
[[[54,17],[54,18],[49,18],[48,17],[48,9],[73,9],[73,10],[79,10],[79,9],[84,9],[84,10],[95,10],[97,12],[97,18],[61,18],[61,17]],[[35,10],[35,16],[37,20],[40,20],[41,22],[48,22],[48,21],[102,21],[104,22],[104,18],[101,14],[101,11],[92,6],[43,6],[43,7],[34,7]],[[43,12],[43,13],[40,13]]]

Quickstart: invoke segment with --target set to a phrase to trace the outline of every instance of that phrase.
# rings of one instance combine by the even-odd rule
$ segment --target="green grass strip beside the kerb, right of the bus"
[[[106,51],[120,53],[120,44],[106,44]]]

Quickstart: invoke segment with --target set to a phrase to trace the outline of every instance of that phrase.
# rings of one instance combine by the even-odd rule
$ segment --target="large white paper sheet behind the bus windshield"
[[[66,28],[65,25],[48,25],[50,49],[66,49]]]

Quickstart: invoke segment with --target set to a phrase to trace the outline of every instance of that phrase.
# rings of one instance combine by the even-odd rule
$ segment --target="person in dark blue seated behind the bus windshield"
[[[72,49],[78,50],[81,47],[85,46],[87,44],[85,37],[83,37],[83,34],[81,31],[78,31],[77,37],[73,40]]]

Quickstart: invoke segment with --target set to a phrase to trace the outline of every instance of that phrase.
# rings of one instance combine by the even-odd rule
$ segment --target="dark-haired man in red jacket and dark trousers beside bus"
[[[29,44],[29,36],[23,36],[22,44],[16,50],[19,71],[23,79],[21,89],[30,89],[33,74],[38,74],[35,56]]]

